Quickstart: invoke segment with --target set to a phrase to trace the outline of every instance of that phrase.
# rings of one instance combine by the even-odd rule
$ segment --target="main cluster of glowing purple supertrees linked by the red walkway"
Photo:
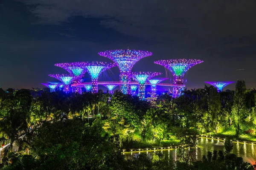
[[[199,64],[203,61],[200,59],[169,59],[169,60],[159,60],[155,61],[155,64],[163,65],[169,71],[171,71],[173,76],[173,82],[160,83],[168,78],[155,77],[160,73],[151,72],[139,72],[132,73],[131,69],[134,64],[144,57],[152,55],[150,51],[140,51],[140,50],[111,50],[99,52],[100,56],[107,57],[111,59],[114,63],[108,62],[70,62],[70,63],[58,63],[55,66],[64,68],[69,74],[50,74],[50,77],[58,79],[60,82],[55,82],[56,84],[51,84],[48,82],[46,85],[50,88],[50,91],[54,91],[57,87],[62,88],[65,93],[69,93],[72,88],[73,92],[81,94],[82,88],[85,91],[97,93],[98,84],[104,85],[108,88],[109,93],[113,93],[113,88],[117,85],[120,86],[120,90],[123,94],[136,95],[136,90],[139,87],[138,96],[140,99],[145,99],[145,85],[151,85],[151,94],[156,94],[157,85],[173,86],[172,97],[180,96],[185,87],[184,75],[186,71],[192,66]],[[98,82],[99,75],[102,72],[118,66],[119,67],[119,82]],[[91,82],[83,82],[82,77],[85,73],[88,73],[91,78]],[[154,79],[152,79],[154,77]],[[131,78],[135,82],[131,82]]]

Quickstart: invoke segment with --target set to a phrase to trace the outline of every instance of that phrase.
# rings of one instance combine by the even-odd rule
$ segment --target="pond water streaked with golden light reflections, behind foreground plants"
[[[222,150],[224,151],[224,146],[216,145],[217,142],[224,142],[220,139],[207,139],[207,138],[199,138],[198,140],[198,147],[196,148],[196,159],[201,160],[203,155],[206,155],[208,151],[213,150]],[[232,153],[236,154],[237,156],[241,156],[244,161],[248,161],[250,163],[255,163],[256,161],[256,144],[246,144],[246,143],[238,143],[233,142],[233,150]],[[150,153],[155,153],[156,150],[148,150],[148,151],[140,151],[141,153],[147,153],[147,155],[151,158]],[[175,161],[177,160],[177,149],[165,149],[165,150],[157,150],[157,152],[168,154],[169,158],[173,158]],[[128,152],[125,153],[126,159],[131,159],[132,156],[138,155],[138,152]],[[253,162],[254,161],[254,162]]]

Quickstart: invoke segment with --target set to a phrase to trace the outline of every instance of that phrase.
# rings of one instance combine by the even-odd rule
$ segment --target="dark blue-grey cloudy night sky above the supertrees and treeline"
[[[185,76],[188,89],[237,79],[256,88],[255,8],[255,0],[0,0],[0,87],[43,88],[55,81],[48,74],[67,73],[55,63],[111,62],[98,52],[129,46],[153,52],[132,71],[165,77],[154,61],[202,59]]]

